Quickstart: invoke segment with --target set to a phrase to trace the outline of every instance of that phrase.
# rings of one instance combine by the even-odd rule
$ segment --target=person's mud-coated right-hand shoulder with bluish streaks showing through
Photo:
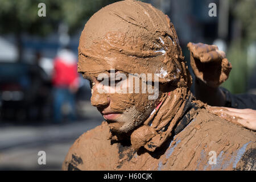
[[[255,138],[254,131],[203,109],[171,142],[167,155],[172,165],[168,168],[255,170]]]

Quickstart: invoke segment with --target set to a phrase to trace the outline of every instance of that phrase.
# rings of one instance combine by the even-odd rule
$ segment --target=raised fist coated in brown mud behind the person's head
[[[191,67],[197,78],[214,88],[228,79],[232,65],[226,59],[225,52],[218,50],[215,45],[203,43],[189,42],[187,47]]]

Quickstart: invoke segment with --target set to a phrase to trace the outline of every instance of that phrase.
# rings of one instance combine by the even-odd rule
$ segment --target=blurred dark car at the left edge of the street
[[[0,63],[1,120],[24,121],[43,118],[51,85],[38,65]]]

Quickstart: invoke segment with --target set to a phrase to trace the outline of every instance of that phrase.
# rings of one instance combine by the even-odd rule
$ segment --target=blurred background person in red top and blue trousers
[[[54,86],[54,122],[61,122],[63,110],[68,113],[69,120],[75,120],[75,93],[79,88],[79,75],[77,73],[77,58],[71,49],[64,48],[57,53],[54,59],[52,83]]]

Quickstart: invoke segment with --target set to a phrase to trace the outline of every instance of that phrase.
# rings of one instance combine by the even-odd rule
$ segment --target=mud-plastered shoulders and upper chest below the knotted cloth
[[[163,148],[135,152],[120,143],[111,144],[109,126],[103,122],[76,140],[63,169],[255,170],[255,138],[255,132],[202,109]]]

